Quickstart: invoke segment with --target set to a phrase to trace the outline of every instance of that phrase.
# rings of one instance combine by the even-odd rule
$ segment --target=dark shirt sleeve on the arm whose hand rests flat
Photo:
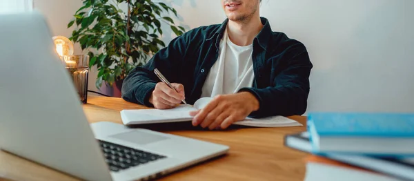
[[[291,56],[285,57],[282,64],[285,68],[274,75],[274,86],[266,88],[242,88],[255,95],[259,101],[259,110],[250,117],[266,117],[272,115],[302,115],[306,111],[310,90],[309,75],[313,65],[303,44],[288,50]],[[272,70],[276,69],[272,67]],[[274,73],[273,73],[274,74]]]

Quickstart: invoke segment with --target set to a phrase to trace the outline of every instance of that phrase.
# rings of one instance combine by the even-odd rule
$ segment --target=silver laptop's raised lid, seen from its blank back
[[[0,15],[1,149],[85,180],[111,180],[39,12]]]

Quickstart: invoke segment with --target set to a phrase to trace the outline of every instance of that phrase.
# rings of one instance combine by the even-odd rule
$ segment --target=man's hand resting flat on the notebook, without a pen
[[[259,101],[248,92],[217,95],[204,108],[190,113],[193,126],[203,128],[227,128],[233,122],[244,120],[250,113],[259,109]]]

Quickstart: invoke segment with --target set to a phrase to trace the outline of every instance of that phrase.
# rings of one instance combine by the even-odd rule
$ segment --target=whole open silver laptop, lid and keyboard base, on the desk
[[[0,148],[82,180],[151,180],[228,146],[89,124],[39,12],[0,15]]]

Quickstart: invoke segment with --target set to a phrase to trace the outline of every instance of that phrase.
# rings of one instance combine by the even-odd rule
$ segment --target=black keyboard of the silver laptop
[[[105,161],[111,171],[121,171],[128,169],[132,166],[139,164],[146,164],[148,162],[154,162],[161,158],[166,158],[163,155],[157,155],[155,153],[149,153],[138,149],[132,149],[130,147],[121,146],[110,142],[98,140],[99,145],[103,151]]]

